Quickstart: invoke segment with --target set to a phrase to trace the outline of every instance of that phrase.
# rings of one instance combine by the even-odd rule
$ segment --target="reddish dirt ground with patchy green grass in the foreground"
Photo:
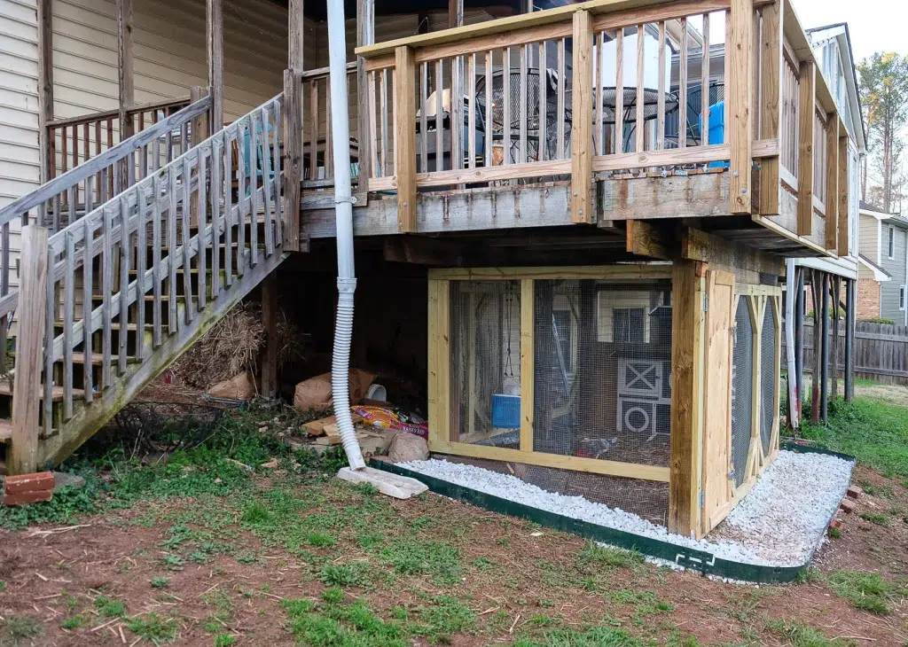
[[[437,495],[394,501],[284,465],[232,495],[0,531],[0,645],[903,645],[903,588],[886,613],[869,613],[828,580],[840,569],[892,583],[908,574],[908,490],[864,468],[855,480],[873,494],[840,515],[817,573],[757,588],[597,552]],[[886,524],[874,523],[882,511]],[[406,642],[351,620],[366,606],[381,619],[372,624],[406,627]],[[322,620],[347,629],[322,632]],[[627,640],[597,639],[592,627]]]

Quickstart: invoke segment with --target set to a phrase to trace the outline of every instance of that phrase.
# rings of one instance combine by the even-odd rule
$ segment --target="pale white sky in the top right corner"
[[[793,0],[804,29],[848,23],[854,63],[873,52],[908,54],[905,0]]]

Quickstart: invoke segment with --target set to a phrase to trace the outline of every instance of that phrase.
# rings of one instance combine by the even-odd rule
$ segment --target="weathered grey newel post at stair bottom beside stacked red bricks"
[[[47,307],[47,230],[44,227],[28,225],[23,228],[21,254],[13,436],[7,465],[10,475],[29,474],[37,468],[38,410]]]

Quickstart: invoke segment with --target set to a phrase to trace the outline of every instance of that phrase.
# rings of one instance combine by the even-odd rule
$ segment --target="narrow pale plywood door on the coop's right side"
[[[733,496],[731,472],[732,326],[735,275],[706,273],[704,358],[703,515],[708,533],[728,514]]]

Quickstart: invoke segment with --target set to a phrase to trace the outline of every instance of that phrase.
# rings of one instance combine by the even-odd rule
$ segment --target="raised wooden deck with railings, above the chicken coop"
[[[357,54],[358,236],[697,218],[758,249],[846,253],[847,133],[781,0],[593,0]],[[703,127],[720,103],[721,139]],[[312,177],[329,160],[307,156],[307,118]],[[302,234],[333,236],[331,182],[300,179]]]

